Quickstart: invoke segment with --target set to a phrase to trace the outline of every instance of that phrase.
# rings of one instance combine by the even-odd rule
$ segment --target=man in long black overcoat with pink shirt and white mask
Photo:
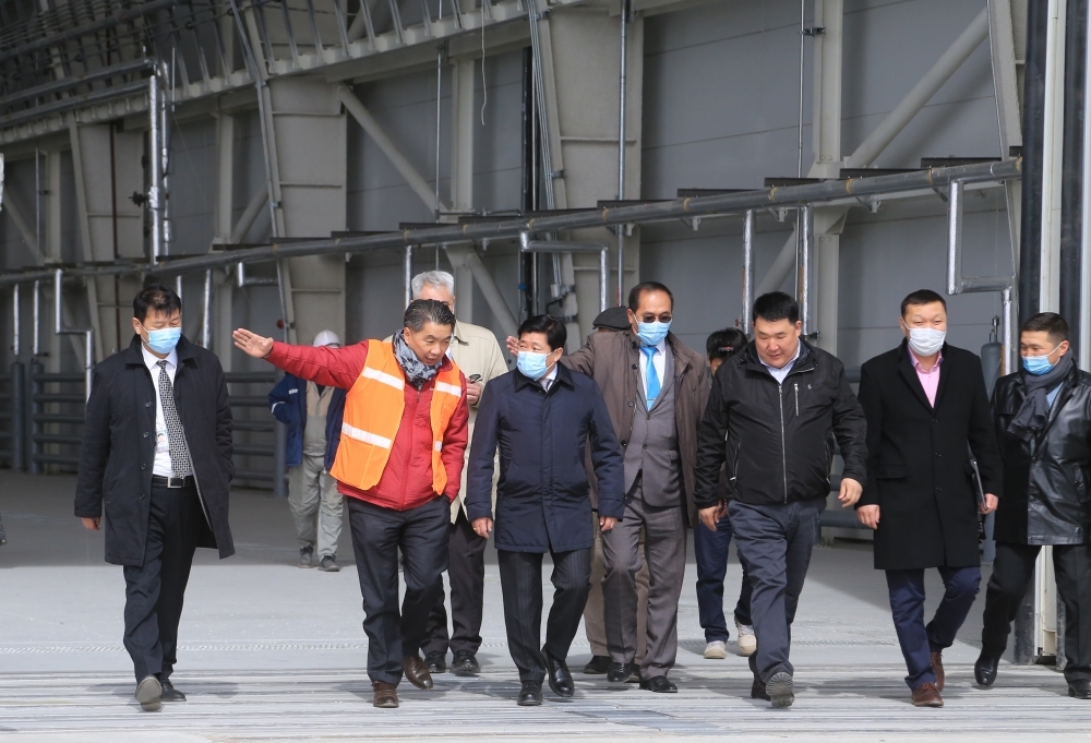
[[[875,567],[919,707],[942,707],[943,651],[955,643],[981,582],[978,514],[996,508],[1002,464],[981,360],[946,343],[947,303],[921,289],[901,303],[906,340],[861,370],[867,484],[856,506],[875,529]],[[981,474],[975,493],[971,457]],[[924,571],[946,592],[924,624]]]

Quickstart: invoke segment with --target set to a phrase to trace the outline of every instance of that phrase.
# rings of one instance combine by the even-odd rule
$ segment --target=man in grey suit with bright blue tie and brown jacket
[[[625,515],[602,535],[607,678],[660,693],[678,691],[667,674],[678,656],[686,527],[697,523],[697,424],[709,392],[704,357],[670,334],[673,309],[670,289],[640,284],[628,296],[630,331],[592,335],[561,359],[598,383],[625,456]],[[636,668],[642,529],[651,585],[647,651]]]

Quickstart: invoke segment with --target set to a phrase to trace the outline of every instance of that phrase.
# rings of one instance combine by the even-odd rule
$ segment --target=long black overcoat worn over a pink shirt
[[[933,407],[902,341],[863,365],[859,397],[867,484],[858,507],[879,506],[875,567],[980,565],[970,448],[986,493],[1000,495],[1003,477],[981,360],[945,344]]]

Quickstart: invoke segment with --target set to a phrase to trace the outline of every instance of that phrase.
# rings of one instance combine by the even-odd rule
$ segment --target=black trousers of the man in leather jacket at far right
[[[1038,544],[996,543],[993,575],[985,590],[981,630],[984,650],[1000,655],[1008,646],[1011,622],[1034,578]],[[1091,679],[1091,544],[1055,544],[1053,568],[1065,604],[1065,678]]]

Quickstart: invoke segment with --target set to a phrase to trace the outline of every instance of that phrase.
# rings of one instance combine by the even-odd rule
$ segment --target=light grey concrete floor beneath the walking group
[[[655,695],[602,676],[576,674],[572,702],[541,708],[514,704],[517,674],[507,655],[500,582],[489,564],[482,674],[436,676],[433,692],[403,684],[398,710],[370,705],[359,588],[347,535],[349,570],[295,567],[284,501],[239,491],[231,504],[238,554],[219,562],[199,552],[187,594],[173,680],[189,702],[140,711],[121,646],[123,580],[101,561],[101,534],[71,514],[71,477],[0,472],[0,514],[9,544],[0,549],[0,740],[109,741],[445,741],[673,740],[731,735],[744,740],[1026,740],[1091,733],[1091,704],[1065,696],[1047,668],[1002,668],[996,686],[972,685],[981,597],[959,642],[945,654],[947,706],[915,709],[890,623],[883,575],[867,544],[815,550],[794,627],[798,702],[774,711],[748,699],[745,659],[705,660],[691,564],[680,606],[678,695]],[[987,571],[986,571],[987,576]],[[732,559],[727,594],[738,590]],[[930,610],[942,592],[930,576]],[[549,606],[547,596],[547,606]],[[589,657],[583,634],[570,664]]]

